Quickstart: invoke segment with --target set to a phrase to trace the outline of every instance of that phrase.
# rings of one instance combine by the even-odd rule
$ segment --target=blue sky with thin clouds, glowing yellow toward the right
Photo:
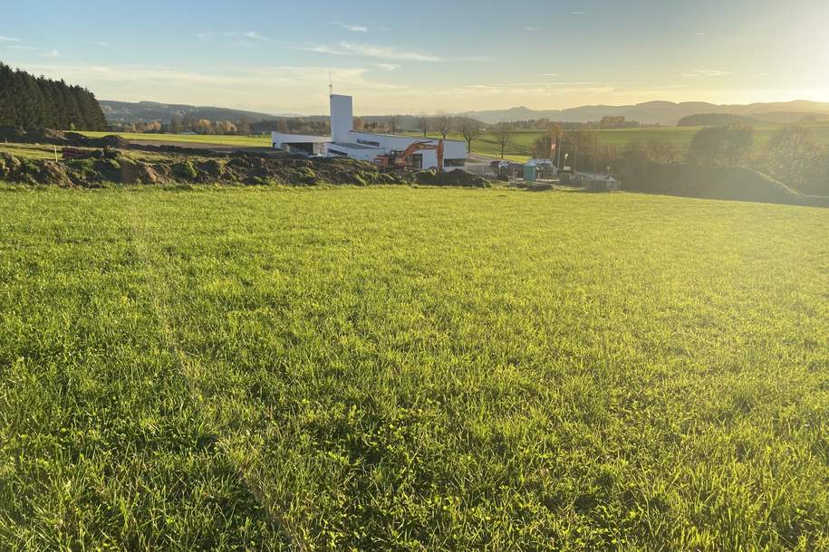
[[[104,100],[271,113],[829,101],[829,2],[7,2],[0,60]]]

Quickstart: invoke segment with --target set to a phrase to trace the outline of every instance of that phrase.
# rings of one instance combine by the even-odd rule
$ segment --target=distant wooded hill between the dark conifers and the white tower
[[[148,121],[169,123],[170,119],[174,116],[207,119],[211,122],[218,120],[239,121],[242,119],[246,119],[248,122],[256,122],[260,120],[284,119],[286,117],[300,117],[295,114],[272,115],[240,109],[199,107],[159,103],[155,101],[139,101],[133,103],[130,101],[101,100],[99,103],[101,103],[104,116],[110,123],[138,123]]]

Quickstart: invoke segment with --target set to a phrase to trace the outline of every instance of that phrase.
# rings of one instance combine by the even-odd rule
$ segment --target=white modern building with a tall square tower
[[[376,134],[354,130],[351,96],[331,95],[331,136],[289,134],[274,132],[271,141],[274,148],[292,153],[321,155],[324,157],[351,157],[361,161],[373,161],[376,157],[390,155],[409,148],[415,143],[437,146],[439,140]],[[444,170],[463,168],[467,159],[467,143],[460,140],[444,140]],[[438,152],[421,150],[411,157],[414,168],[438,169]]]

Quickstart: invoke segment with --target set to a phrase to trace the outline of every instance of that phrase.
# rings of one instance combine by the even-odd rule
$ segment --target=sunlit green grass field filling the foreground
[[[829,547],[829,218],[0,192],[0,548]]]

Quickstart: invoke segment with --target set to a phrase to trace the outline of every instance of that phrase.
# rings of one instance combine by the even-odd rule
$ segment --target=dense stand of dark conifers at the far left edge
[[[0,125],[106,130],[107,121],[91,91],[0,62]]]

